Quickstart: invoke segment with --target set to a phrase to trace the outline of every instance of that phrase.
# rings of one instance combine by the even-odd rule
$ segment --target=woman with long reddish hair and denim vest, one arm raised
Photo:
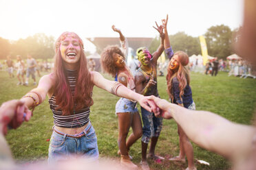
[[[183,51],[177,51],[173,55],[167,33],[167,21],[168,16],[166,20],[162,20],[162,25],[164,25],[164,49],[166,49],[168,57],[171,58],[167,67],[167,92],[173,104],[195,110],[195,103],[189,86],[189,71],[186,69],[186,65],[189,64],[189,56]],[[170,160],[185,162],[186,154],[189,164],[187,170],[195,170],[193,147],[180,125],[178,125],[178,134],[180,137],[180,154]]]

